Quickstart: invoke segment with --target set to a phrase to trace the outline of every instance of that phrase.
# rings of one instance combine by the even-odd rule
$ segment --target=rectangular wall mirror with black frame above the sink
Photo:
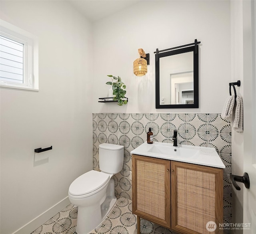
[[[198,108],[198,45],[165,51],[156,51],[156,109]]]

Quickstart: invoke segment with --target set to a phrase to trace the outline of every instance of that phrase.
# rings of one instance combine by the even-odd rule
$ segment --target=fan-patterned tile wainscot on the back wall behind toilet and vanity
[[[130,151],[146,141],[149,127],[154,141],[172,143],[178,129],[178,143],[213,147],[226,166],[224,169],[224,221],[232,222],[231,127],[219,113],[93,113],[93,169],[99,171],[98,149],[101,143],[124,145],[124,166],[114,175],[117,197],[132,198]]]

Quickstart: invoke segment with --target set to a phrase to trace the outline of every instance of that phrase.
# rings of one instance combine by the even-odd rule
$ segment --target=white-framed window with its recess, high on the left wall
[[[38,90],[38,39],[1,20],[0,87]]]

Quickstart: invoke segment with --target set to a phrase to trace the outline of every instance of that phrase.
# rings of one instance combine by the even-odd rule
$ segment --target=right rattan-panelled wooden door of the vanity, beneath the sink
[[[171,161],[171,170],[171,229],[182,234],[222,233],[222,169]]]

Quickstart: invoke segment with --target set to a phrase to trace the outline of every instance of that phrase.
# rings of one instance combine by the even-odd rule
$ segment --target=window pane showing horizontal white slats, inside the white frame
[[[24,44],[0,36],[0,80],[23,83]]]

